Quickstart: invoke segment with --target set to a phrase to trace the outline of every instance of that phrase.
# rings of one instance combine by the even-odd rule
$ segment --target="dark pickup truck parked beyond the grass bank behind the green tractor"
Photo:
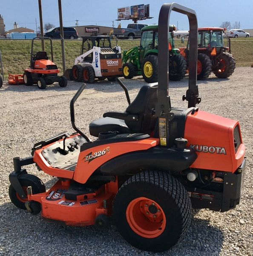
[[[147,24],[128,24],[126,29],[113,29],[113,35],[117,38],[126,38],[126,39],[134,39],[141,38],[141,29],[144,26],[148,26]]]

